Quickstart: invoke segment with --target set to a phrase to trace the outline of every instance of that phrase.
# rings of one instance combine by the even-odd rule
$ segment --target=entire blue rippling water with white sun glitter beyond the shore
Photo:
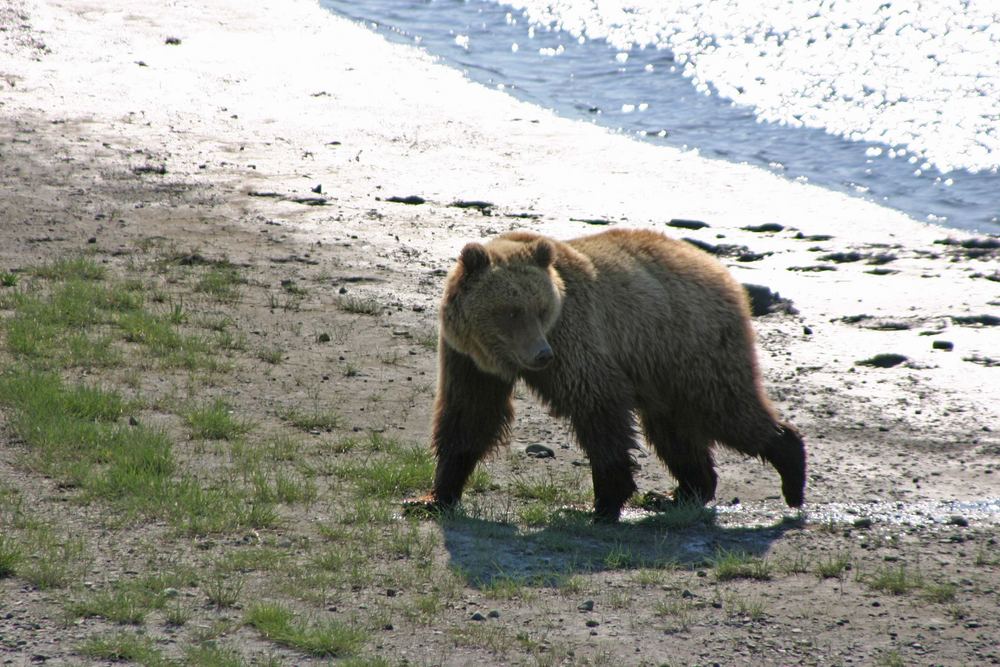
[[[1000,232],[1000,2],[321,2],[564,115]]]

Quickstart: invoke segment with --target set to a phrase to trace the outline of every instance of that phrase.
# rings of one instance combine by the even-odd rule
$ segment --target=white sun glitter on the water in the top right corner
[[[994,0],[497,1],[622,53],[669,49],[698,90],[761,121],[905,146],[942,172],[1000,169]]]

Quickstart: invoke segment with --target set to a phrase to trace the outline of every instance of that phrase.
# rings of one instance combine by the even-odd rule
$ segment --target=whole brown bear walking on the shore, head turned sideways
[[[569,418],[599,520],[616,521],[636,491],[636,416],[677,479],[675,500],[715,497],[721,443],[770,462],[785,501],[802,505],[805,447],[762,390],[746,292],[688,243],[624,229],[469,243],[440,318],[437,469],[421,502],[458,502],[476,464],[508,439],[523,379]]]

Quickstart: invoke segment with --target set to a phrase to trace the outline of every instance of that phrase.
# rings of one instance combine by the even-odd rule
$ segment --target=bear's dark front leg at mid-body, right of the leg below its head
[[[572,422],[577,440],[590,458],[594,520],[614,523],[636,491],[632,413],[626,407],[603,408],[574,414]]]

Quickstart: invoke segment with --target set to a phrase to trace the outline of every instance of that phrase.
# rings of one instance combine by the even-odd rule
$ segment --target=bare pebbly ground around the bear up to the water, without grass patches
[[[384,518],[386,534],[416,525],[430,545],[419,583],[385,557],[377,576],[338,580],[317,600],[278,586],[281,568],[251,568],[231,606],[198,604],[204,583],[185,590],[192,620],[179,630],[153,613],[136,632],[163,655],[133,659],[197,662],[189,648],[205,642],[246,663],[327,659],[245,620],[253,600],[274,598],[364,626],[360,664],[1000,662],[995,237],[633,145],[471,86],[305,2],[7,0],[0,26],[0,273],[18,277],[0,290],[83,256],[245,337],[209,379],[141,364],[131,376],[65,372],[150,397],[141,419],[176,438],[187,466],[225,464],[183,444],[170,407],[202,395],[225,397],[268,437],[292,407],[333,406],[336,425],[302,435],[315,469],[361,457],[338,445],[357,434],[426,443],[437,298],[470,239],[654,227],[791,300],[755,326],[768,391],[809,447],[801,515],[784,511],[772,471],[723,454],[709,525],[638,507],[610,532],[574,524],[559,509],[586,507],[586,461],[519,392],[511,449],[466,515]],[[222,260],[245,282],[218,303],[195,276]],[[9,346],[0,355],[17,363]],[[533,444],[554,456],[528,456]],[[165,554],[197,565],[244,546],[116,525],[113,510],[34,470],[9,418],[0,451],[0,532],[23,540],[16,496],[92,551],[62,587],[16,568],[0,579],[6,664],[100,662],[81,643],[119,625],[68,612],[72,600]],[[640,464],[641,491],[672,486],[652,456]],[[313,475],[318,500],[283,506],[254,537],[304,563],[314,554],[302,545],[347,511],[342,480]],[[726,553],[756,570],[729,576]],[[428,591],[440,604],[411,614]]]

